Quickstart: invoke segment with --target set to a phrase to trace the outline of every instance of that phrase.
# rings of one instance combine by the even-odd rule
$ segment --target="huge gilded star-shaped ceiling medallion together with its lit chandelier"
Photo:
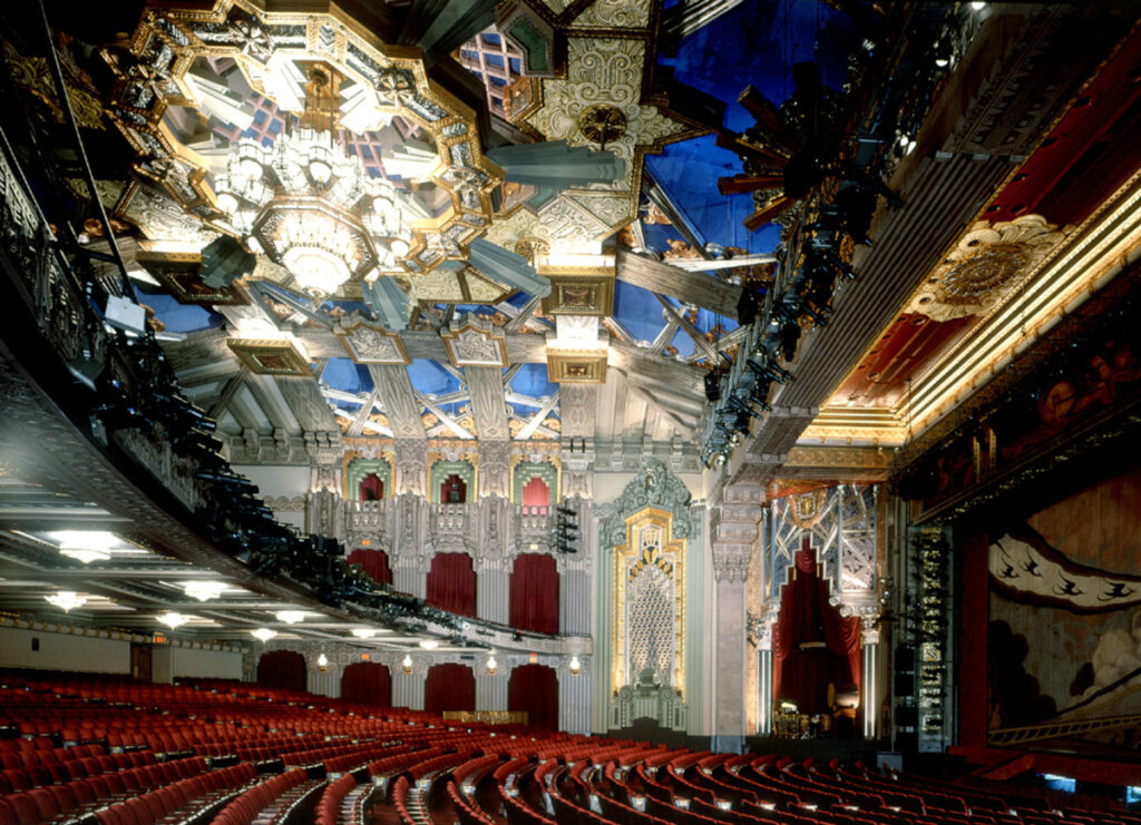
[[[419,52],[329,9],[148,3],[129,50],[104,51],[107,112],[135,171],[194,219],[311,294],[358,297],[381,275],[463,261],[502,172]]]

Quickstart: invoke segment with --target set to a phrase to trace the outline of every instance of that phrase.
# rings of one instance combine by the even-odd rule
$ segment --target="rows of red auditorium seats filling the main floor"
[[[258,685],[0,673],[0,825],[1141,825],[1106,800],[859,762],[446,722]]]

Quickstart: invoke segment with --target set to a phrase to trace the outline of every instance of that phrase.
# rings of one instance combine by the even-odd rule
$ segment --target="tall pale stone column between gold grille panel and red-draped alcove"
[[[717,581],[717,648],[713,688],[713,750],[743,752],[747,627],[745,579],[761,518],[764,488],[725,488],[713,510],[713,575]]]

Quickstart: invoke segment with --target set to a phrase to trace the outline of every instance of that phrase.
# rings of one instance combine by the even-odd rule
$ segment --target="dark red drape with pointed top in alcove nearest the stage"
[[[795,702],[803,713],[828,710],[828,683],[860,686],[860,623],[828,604],[828,582],[820,579],[808,542],[796,553],[792,581],[784,586],[780,614],[772,631],[772,696]],[[807,642],[824,643],[808,647]]]

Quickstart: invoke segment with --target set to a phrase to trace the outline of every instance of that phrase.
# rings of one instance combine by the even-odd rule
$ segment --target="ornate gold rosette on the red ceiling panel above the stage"
[[[937,321],[985,315],[1066,239],[1042,215],[992,226],[979,221],[960,239],[904,308]]]

